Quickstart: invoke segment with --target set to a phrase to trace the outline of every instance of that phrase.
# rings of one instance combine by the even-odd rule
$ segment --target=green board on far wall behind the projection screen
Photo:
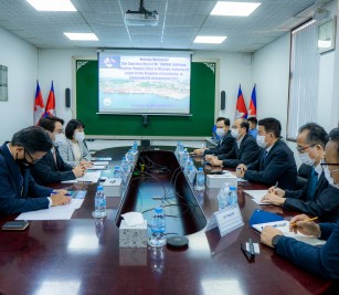
[[[103,136],[210,136],[214,124],[215,64],[191,64],[191,116],[96,114],[98,112],[98,64],[76,60],[76,118],[86,135]]]

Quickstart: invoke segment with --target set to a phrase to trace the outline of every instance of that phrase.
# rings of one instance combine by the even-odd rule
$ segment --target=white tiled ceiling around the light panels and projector
[[[46,0],[47,1],[47,0]],[[235,0],[233,0],[235,1]],[[327,0],[246,0],[262,4],[248,18],[210,15],[216,1],[145,0],[158,27],[126,27],[139,0],[72,0],[76,12],[35,11],[25,0],[0,0],[0,27],[36,48],[186,49],[255,52],[306,21]],[[63,32],[93,32],[99,41],[70,41]],[[227,35],[222,44],[194,44],[200,35]],[[0,42],[1,44],[1,42]]]

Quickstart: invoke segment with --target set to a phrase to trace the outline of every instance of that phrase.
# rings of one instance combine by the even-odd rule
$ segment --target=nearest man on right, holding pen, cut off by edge
[[[329,141],[325,148],[325,176],[329,185],[339,189],[339,128],[329,134]],[[336,194],[338,198],[338,193]],[[337,223],[315,223],[305,214],[290,220],[290,231],[326,240],[321,247],[312,246],[293,238],[284,236],[283,232],[273,226],[265,226],[261,234],[261,242],[275,247],[275,252],[294,264],[312,272],[327,280],[339,278],[339,219]],[[337,289],[338,291],[338,289]],[[338,293],[338,292],[337,292]],[[333,293],[335,294],[335,293]]]

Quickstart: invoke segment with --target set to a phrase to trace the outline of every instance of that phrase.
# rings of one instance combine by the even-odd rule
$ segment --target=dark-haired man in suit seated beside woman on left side
[[[55,136],[63,134],[63,119],[52,116],[41,118],[39,122],[39,126],[47,131],[54,146],[57,145],[55,143]],[[84,165],[77,165],[73,168],[71,165],[65,164],[56,147],[52,147],[51,150],[30,168],[30,172],[39,185],[72,180],[84,176],[85,171],[86,168]]]

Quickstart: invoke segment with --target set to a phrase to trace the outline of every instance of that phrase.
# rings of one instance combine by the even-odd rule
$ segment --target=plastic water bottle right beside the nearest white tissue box
[[[150,224],[151,236],[148,239],[150,246],[163,246],[166,245],[165,230],[166,220],[162,208],[156,208],[155,214]]]

